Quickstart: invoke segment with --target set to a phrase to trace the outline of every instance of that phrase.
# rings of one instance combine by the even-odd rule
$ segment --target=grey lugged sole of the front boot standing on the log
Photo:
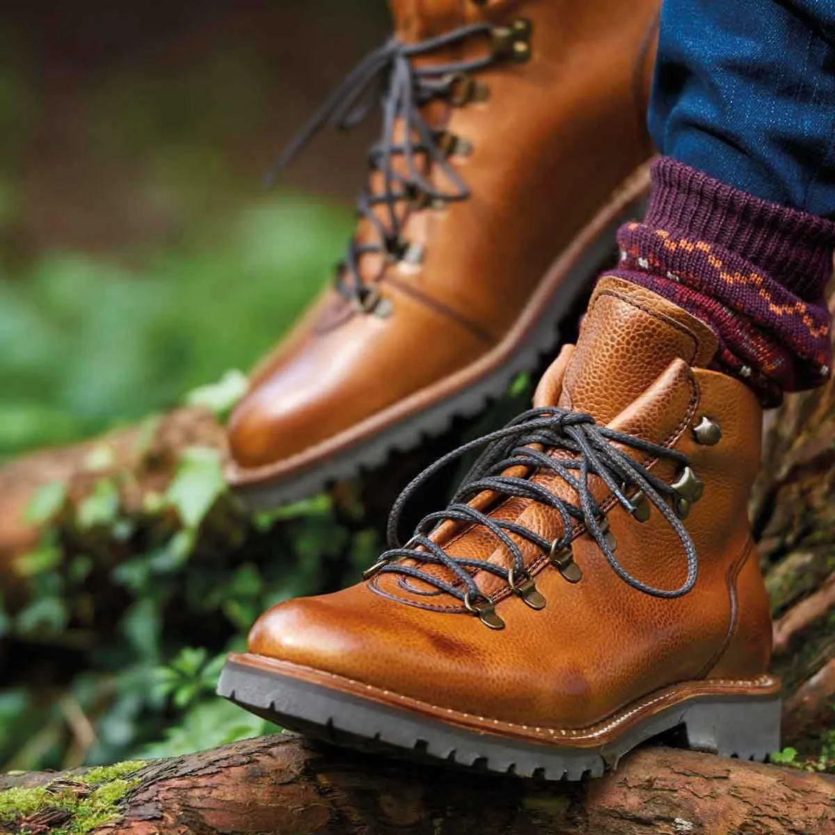
[[[231,660],[218,693],[291,731],[352,746],[383,743],[421,757],[546,780],[600,777],[641,742],[675,728],[685,731],[691,748],[725,757],[762,762],[780,748],[776,696],[696,696],[647,716],[614,741],[579,749],[480,733]]]

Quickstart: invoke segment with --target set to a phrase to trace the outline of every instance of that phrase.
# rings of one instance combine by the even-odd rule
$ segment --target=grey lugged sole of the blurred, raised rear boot
[[[417,447],[425,435],[439,435],[454,417],[473,417],[482,412],[488,402],[507,391],[514,378],[533,371],[540,357],[559,345],[559,322],[571,309],[579,294],[587,289],[590,279],[605,269],[614,251],[615,231],[621,223],[640,213],[644,198],[635,200],[621,210],[597,240],[591,244],[566,274],[559,290],[539,312],[534,326],[514,353],[502,365],[485,374],[467,387],[432,406],[404,417],[397,423],[376,433],[372,438],[357,443],[344,452],[311,465],[311,468],[286,478],[265,480],[251,485],[235,485],[235,495],[251,511],[271,510],[281,504],[316,493],[328,483],[353,478],[360,468],[377,467],[392,451],[406,452]]]

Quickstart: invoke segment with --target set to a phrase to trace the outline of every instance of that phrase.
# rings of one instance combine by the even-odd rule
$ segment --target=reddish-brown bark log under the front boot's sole
[[[120,817],[95,835],[835,832],[835,778],[665,748],[566,784],[389,761],[285,734],[151,762],[136,777]],[[57,779],[72,775],[0,778],[0,790]],[[68,823],[59,810],[39,820],[49,815]]]

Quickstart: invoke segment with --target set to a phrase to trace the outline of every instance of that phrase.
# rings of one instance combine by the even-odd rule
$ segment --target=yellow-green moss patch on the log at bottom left
[[[57,780],[38,788],[10,788],[0,792],[0,823],[12,823],[47,808],[66,809],[72,818],[52,835],[85,835],[95,827],[119,817],[119,801],[139,783],[131,779],[143,762],[119,762],[92,768],[72,781]],[[79,792],[73,786],[89,786]]]

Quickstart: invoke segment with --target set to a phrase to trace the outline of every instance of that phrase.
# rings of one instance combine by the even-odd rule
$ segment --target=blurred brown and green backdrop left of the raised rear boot
[[[330,280],[374,126],[261,175],[387,32],[382,0],[8,4],[0,457],[247,369]]]

